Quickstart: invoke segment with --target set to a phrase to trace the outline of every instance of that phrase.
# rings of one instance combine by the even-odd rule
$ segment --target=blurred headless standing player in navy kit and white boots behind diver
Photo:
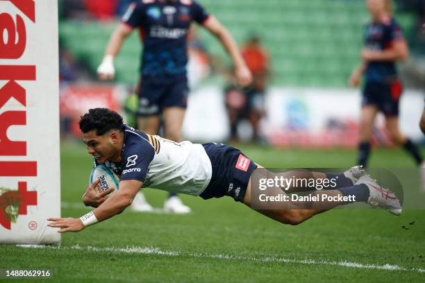
[[[220,22],[208,15],[202,6],[192,0],[142,0],[131,3],[110,37],[106,53],[98,68],[99,78],[115,76],[114,58],[124,40],[134,28],[139,28],[144,44],[139,86],[138,128],[156,135],[163,115],[164,135],[167,139],[182,141],[181,127],[188,98],[187,35],[191,22],[197,22],[215,35],[235,65],[235,77],[242,86],[251,83],[251,73],[240,55],[238,46]],[[132,209],[149,211],[141,192]],[[176,194],[170,194],[164,209],[168,212],[187,213]]]

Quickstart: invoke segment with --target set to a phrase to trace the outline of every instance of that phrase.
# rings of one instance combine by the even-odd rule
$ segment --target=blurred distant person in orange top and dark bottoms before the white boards
[[[226,108],[231,128],[231,140],[260,141],[259,123],[265,115],[265,92],[269,78],[269,60],[267,51],[257,35],[251,35],[242,45],[244,58],[253,81],[248,87],[240,89],[235,84],[233,72],[228,74],[229,85],[225,89]],[[248,120],[251,130],[243,123]],[[238,128],[240,130],[238,130]]]

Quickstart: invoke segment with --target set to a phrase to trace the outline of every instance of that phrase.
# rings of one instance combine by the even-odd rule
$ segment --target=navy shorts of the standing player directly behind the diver
[[[138,91],[138,116],[158,115],[164,108],[185,109],[188,106],[188,94],[188,78],[185,75],[169,78],[143,76]]]

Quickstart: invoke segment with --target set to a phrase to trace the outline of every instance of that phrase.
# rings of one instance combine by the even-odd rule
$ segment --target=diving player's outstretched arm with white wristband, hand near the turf
[[[87,226],[104,221],[122,212],[131,205],[133,198],[142,185],[143,182],[139,180],[123,180],[119,182],[118,191],[105,200],[97,209],[80,218],[47,218],[47,221],[52,221],[48,226],[62,228],[58,231],[59,233],[79,232]]]

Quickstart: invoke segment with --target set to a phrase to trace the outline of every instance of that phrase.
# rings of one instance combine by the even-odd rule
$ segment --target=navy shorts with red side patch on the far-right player
[[[363,89],[362,105],[376,105],[387,117],[399,116],[400,96],[403,92],[401,82],[367,82]]]

